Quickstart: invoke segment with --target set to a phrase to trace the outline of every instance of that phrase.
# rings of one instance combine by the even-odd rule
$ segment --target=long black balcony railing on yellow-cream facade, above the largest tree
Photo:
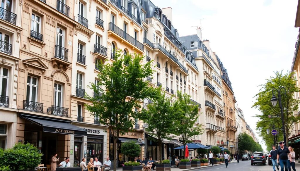
[[[140,43],[139,41],[137,41],[134,37],[132,37],[131,35],[129,35],[125,31],[123,31],[118,26],[114,25],[112,22],[108,23],[108,30],[111,30],[111,31],[115,32],[116,34],[118,34],[119,36],[123,37],[124,39],[126,39],[128,42],[130,42],[134,46],[137,46],[137,48],[139,48],[142,51],[144,51],[144,45],[142,43]]]

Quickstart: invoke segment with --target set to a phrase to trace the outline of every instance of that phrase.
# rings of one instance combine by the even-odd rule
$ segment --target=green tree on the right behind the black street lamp
[[[273,107],[270,101],[273,88],[279,89],[280,87],[284,87],[286,89],[286,93],[281,92],[286,140],[288,140],[288,137],[291,134],[293,123],[299,122],[300,120],[300,116],[294,116],[294,112],[298,111],[298,104],[300,101],[299,99],[293,98],[294,93],[299,92],[299,88],[296,86],[293,74],[294,73],[289,72],[283,74],[282,71],[275,72],[275,76],[271,76],[269,79],[266,79],[265,84],[259,85],[261,88],[255,96],[256,102],[253,105],[254,108],[257,108],[261,112],[261,114],[256,115],[256,117],[260,119],[260,121],[256,124],[256,129],[260,131],[262,138],[267,142],[269,142],[270,139],[273,139],[272,136],[265,134],[270,123],[281,125],[280,128],[282,127],[280,117],[268,118],[268,115],[281,116],[278,103],[275,107]],[[275,91],[274,93],[276,93],[277,96],[277,92]],[[286,146],[288,146],[287,142]]]

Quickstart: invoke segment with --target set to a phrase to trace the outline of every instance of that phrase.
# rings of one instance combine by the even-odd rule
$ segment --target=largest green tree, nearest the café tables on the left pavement
[[[112,64],[98,64],[100,73],[97,77],[101,81],[88,86],[95,92],[95,96],[87,96],[93,105],[86,105],[86,109],[97,116],[100,123],[109,127],[113,136],[114,171],[117,168],[119,135],[133,128],[134,119],[137,118],[133,108],[139,108],[139,100],[151,96],[153,90],[148,86],[148,81],[144,81],[153,73],[151,62],[141,64],[143,57],[137,54],[120,54],[116,52]]]

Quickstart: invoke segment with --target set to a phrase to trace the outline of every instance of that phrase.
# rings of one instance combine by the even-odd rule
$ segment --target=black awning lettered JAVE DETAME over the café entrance
[[[75,125],[71,125],[69,121],[59,120],[59,119],[50,119],[42,118],[38,116],[30,115],[19,115],[21,118],[25,118],[37,125],[43,127],[44,132],[52,132],[58,134],[75,134],[75,135],[87,135],[87,131],[82,128],[79,128]]]

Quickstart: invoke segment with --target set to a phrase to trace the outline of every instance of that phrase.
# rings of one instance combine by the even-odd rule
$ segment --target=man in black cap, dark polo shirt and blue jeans
[[[284,143],[280,141],[280,148],[278,149],[277,154],[277,163],[280,162],[281,171],[283,171],[283,165],[285,170],[288,170],[288,162],[292,162],[291,154],[289,153],[289,149],[284,146]],[[287,156],[289,155],[289,161],[287,160]],[[280,159],[280,160],[279,160]]]

